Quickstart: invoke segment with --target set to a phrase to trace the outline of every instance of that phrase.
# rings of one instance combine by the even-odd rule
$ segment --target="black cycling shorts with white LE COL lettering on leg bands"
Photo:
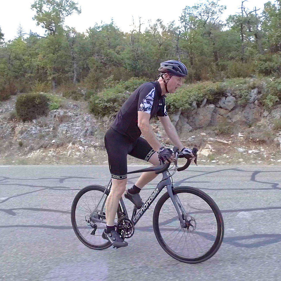
[[[148,161],[155,150],[144,138],[132,142],[126,136],[109,128],[104,136],[108,164],[113,179],[127,178],[127,155]]]

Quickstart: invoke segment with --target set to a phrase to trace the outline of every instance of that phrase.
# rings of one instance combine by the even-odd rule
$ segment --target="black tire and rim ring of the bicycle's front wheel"
[[[170,247],[165,243],[165,241],[162,237],[162,234],[160,232],[160,228],[159,228],[160,210],[161,210],[162,206],[164,205],[164,203],[167,201],[167,199],[170,198],[168,192],[166,192],[165,194],[163,194],[161,196],[161,198],[157,202],[157,204],[155,206],[155,210],[153,212],[153,230],[154,230],[158,243],[160,244],[160,246],[164,249],[164,251],[166,253],[168,253],[172,258],[175,258],[178,261],[181,261],[184,263],[201,263],[203,261],[208,260],[218,251],[218,249],[220,248],[220,245],[222,244],[222,239],[223,239],[223,235],[224,235],[224,223],[223,223],[223,218],[222,218],[220,209],[218,208],[215,201],[210,196],[208,196],[208,194],[201,191],[200,189],[196,189],[196,188],[193,188],[190,186],[179,186],[179,187],[173,188],[173,193],[174,194],[179,194],[179,193],[194,194],[195,196],[199,196],[210,206],[210,208],[213,210],[213,213],[215,214],[215,219],[217,222],[216,239],[215,239],[213,246],[210,247],[209,251],[197,258],[186,258],[182,255],[179,255],[172,249],[170,249]],[[175,210],[175,212],[176,212],[176,210]]]

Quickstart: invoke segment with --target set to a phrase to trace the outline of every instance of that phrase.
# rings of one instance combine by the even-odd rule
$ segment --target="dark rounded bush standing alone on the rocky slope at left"
[[[20,95],[16,100],[17,116],[24,122],[48,114],[48,98],[41,93]]]

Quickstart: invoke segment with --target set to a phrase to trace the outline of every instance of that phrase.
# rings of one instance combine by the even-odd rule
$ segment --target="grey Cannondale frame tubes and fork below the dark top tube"
[[[186,216],[186,212],[185,212],[184,208],[182,207],[181,202],[180,202],[179,197],[177,196],[177,194],[173,193],[173,186],[172,186],[172,182],[171,182],[171,179],[170,179],[170,174],[169,174],[168,171],[165,171],[162,174],[163,174],[162,180],[159,182],[159,184],[157,184],[156,189],[153,191],[153,193],[151,193],[151,195],[145,201],[143,206],[138,211],[137,211],[137,208],[134,207],[132,218],[131,218],[131,221],[133,222],[134,225],[137,224],[137,222],[140,220],[140,218],[143,216],[143,214],[146,212],[146,210],[149,208],[149,206],[153,203],[155,198],[159,195],[159,193],[162,191],[162,189],[166,186],[167,187],[167,191],[169,193],[169,196],[170,196],[170,198],[171,198],[171,200],[172,200],[172,202],[173,202],[173,204],[174,204],[174,206],[176,208],[177,214],[179,216],[179,220],[181,221],[182,225],[185,227],[186,224],[184,222],[184,219],[183,219],[182,215]],[[107,188],[110,191],[110,189],[111,189],[111,181],[109,182]],[[105,193],[105,191],[104,191],[104,193]],[[103,196],[104,196],[104,194],[103,194]],[[102,196],[102,198],[103,198],[103,196]],[[102,198],[100,199],[100,202],[102,201]],[[107,198],[107,196],[106,196],[106,198]],[[105,198],[104,203],[102,205],[101,212],[103,211],[106,198]],[[100,202],[99,202],[99,204],[100,204]],[[122,206],[123,212],[125,213],[126,217],[128,217],[127,209],[126,209],[126,206],[124,204],[124,201],[123,201],[122,197],[120,199],[120,204]],[[97,209],[97,207],[96,207],[96,209]],[[97,219],[97,218],[92,216],[94,214],[95,210],[90,215],[91,219],[93,221],[106,223],[103,220],[99,220],[99,219]]]

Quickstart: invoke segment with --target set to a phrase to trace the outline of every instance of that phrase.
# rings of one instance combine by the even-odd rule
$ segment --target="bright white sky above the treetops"
[[[75,1],[75,0],[74,0]],[[202,2],[204,0],[201,0]],[[34,0],[8,0],[1,1],[0,10],[0,27],[5,34],[5,40],[11,40],[17,36],[18,26],[21,24],[24,31],[28,33],[37,32],[44,35],[44,29],[36,26],[36,22],[32,20],[35,11],[32,11],[30,6]],[[89,27],[93,27],[95,23],[110,23],[113,18],[115,25],[124,32],[132,30],[132,16],[135,23],[138,23],[138,17],[141,17],[142,31],[148,26],[148,20],[155,23],[157,18],[161,18],[163,23],[167,24],[172,20],[176,22],[185,6],[192,6],[197,3],[196,0],[190,1],[171,1],[171,0],[140,0],[140,1],[97,1],[97,0],[76,0],[78,6],[81,7],[80,15],[73,14],[66,18],[65,25],[75,27],[78,32],[85,32]],[[267,0],[248,0],[244,2],[245,6],[253,9],[254,6],[263,9],[263,4]],[[273,2],[273,1],[271,1]],[[226,5],[227,10],[224,13],[224,18],[239,11],[241,1],[220,0],[220,5]]]

